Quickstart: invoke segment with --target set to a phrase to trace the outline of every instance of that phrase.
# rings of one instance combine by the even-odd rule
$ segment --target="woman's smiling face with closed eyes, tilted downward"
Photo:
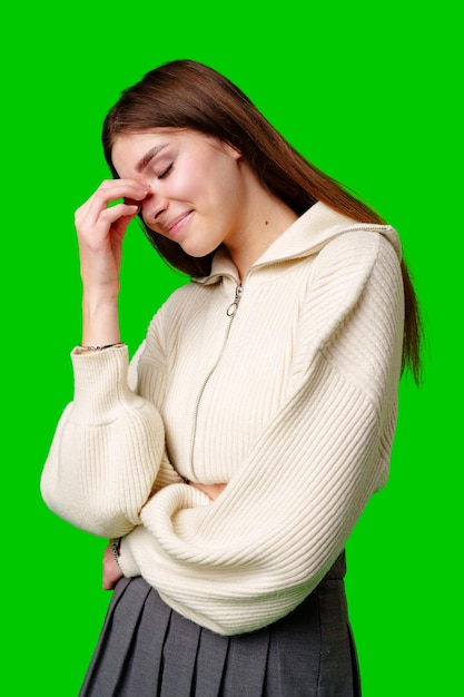
[[[145,184],[148,227],[194,256],[234,246],[246,224],[246,177],[240,154],[194,130],[157,129],[119,136],[112,163],[121,179]]]

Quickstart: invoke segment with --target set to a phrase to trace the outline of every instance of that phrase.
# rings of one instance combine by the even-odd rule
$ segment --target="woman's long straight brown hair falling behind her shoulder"
[[[297,215],[319,200],[359,223],[384,223],[366,204],[302,157],[238,87],[203,63],[176,60],[162,65],[122,92],[105,119],[102,131],[105,157],[115,177],[118,175],[111,150],[117,136],[154,128],[189,128],[234,146],[261,184]],[[191,257],[177,243],[141,223],[149,242],[170,265],[191,276],[210,272],[214,253]],[[403,367],[407,366],[418,383],[421,318],[404,261],[402,274]]]

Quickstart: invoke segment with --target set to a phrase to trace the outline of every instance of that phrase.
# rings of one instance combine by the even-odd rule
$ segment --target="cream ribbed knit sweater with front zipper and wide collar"
[[[208,278],[176,291],[129,371],[125,347],[72,355],[47,504],[95,534],[125,536],[125,575],[216,632],[288,613],[387,478],[399,256],[389,226],[319,203],[238,292],[220,253]],[[227,487],[210,501],[178,473]]]

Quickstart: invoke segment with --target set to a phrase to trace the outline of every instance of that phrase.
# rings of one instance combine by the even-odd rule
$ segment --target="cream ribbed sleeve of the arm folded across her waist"
[[[342,236],[313,267],[292,389],[211,502],[174,484],[122,541],[121,567],[224,635],[312,592],[385,481],[396,422],[403,286],[392,245]],[[269,366],[272,370],[272,366]]]

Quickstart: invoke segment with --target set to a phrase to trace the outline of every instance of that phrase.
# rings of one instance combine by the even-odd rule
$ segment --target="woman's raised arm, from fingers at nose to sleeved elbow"
[[[105,181],[76,214],[83,345],[120,341],[121,245],[146,193],[136,181]],[[119,198],[125,202],[116,203]],[[42,495],[51,510],[72,524],[102,537],[119,537],[139,524],[139,511],[157,477],[179,480],[164,454],[158,410],[137,394],[137,386],[129,387],[127,347],[78,348],[72,362],[75,399],[58,424],[42,474]]]

